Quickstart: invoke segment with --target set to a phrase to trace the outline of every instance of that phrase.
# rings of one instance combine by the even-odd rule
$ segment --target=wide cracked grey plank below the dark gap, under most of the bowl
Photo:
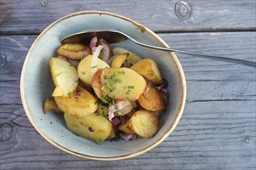
[[[255,61],[254,32],[159,34],[170,46]],[[36,36],[0,36],[0,169],[255,169],[256,70],[178,55],[188,87],[175,131],[144,155],[116,162],[74,157],[29,123],[19,94],[22,62]]]

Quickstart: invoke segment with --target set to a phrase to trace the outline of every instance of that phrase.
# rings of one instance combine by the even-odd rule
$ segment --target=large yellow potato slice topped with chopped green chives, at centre
[[[143,76],[128,68],[102,70],[102,90],[116,100],[137,100],[146,87]]]

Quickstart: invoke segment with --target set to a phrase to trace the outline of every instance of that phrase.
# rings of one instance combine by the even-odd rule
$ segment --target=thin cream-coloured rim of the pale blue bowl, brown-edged
[[[160,145],[162,141],[164,141],[165,138],[167,138],[172,131],[174,131],[175,127],[177,126],[178,122],[180,121],[183,111],[184,111],[184,107],[185,107],[185,100],[186,100],[186,94],[187,94],[187,90],[186,90],[186,83],[185,83],[185,74],[184,71],[182,69],[182,65],[179,62],[177,56],[175,55],[175,53],[171,53],[172,58],[175,61],[175,64],[177,65],[177,68],[179,70],[179,76],[181,78],[181,87],[182,87],[182,99],[179,102],[179,106],[178,106],[178,114],[175,117],[175,121],[173,124],[171,124],[171,126],[168,128],[168,131],[166,131],[161,138],[159,138],[157,141],[154,141],[154,143],[152,145],[147,146],[146,148],[143,148],[139,151],[134,151],[133,153],[130,153],[128,155],[121,155],[121,156],[114,156],[114,157],[95,157],[95,156],[91,156],[91,155],[85,155],[85,154],[81,154],[75,151],[71,151],[68,148],[64,148],[61,145],[58,145],[54,140],[52,140],[50,137],[47,136],[47,134],[45,134],[43,132],[43,130],[41,130],[37,124],[36,121],[34,121],[32,114],[30,113],[28,104],[26,102],[26,97],[25,97],[25,73],[26,73],[26,66],[27,63],[29,62],[29,58],[33,52],[33,49],[35,48],[36,44],[39,42],[39,40],[41,39],[41,37],[49,30],[51,29],[53,26],[55,26],[58,22],[63,21],[64,19],[68,19],[77,15],[88,15],[88,14],[99,14],[99,15],[110,15],[112,17],[115,18],[119,18],[119,19],[124,19],[130,23],[132,23],[134,26],[137,26],[138,29],[140,29],[141,31],[146,31],[148,32],[151,36],[153,36],[154,38],[157,39],[158,42],[161,42],[161,44],[165,47],[169,47],[168,44],[166,42],[164,42],[164,40],[162,40],[159,36],[157,36],[157,34],[155,34],[153,31],[151,31],[150,29],[148,29],[146,26],[141,25],[139,22],[135,22],[133,21],[133,19],[128,19],[123,15],[118,15],[118,14],[114,14],[111,12],[102,12],[102,11],[85,11],[85,12],[74,12],[71,13],[69,15],[65,15],[64,17],[61,17],[61,19],[57,19],[55,22],[51,23],[50,26],[47,26],[46,29],[43,30],[43,32],[40,33],[39,36],[37,36],[37,38],[34,40],[32,46],[29,49],[29,52],[26,55],[26,59],[23,63],[22,66],[22,73],[21,73],[21,78],[20,78],[20,95],[21,95],[21,99],[22,99],[22,106],[26,112],[26,116],[29,118],[29,121],[31,122],[31,124],[33,124],[33,127],[36,128],[36,131],[38,131],[38,133],[40,133],[41,136],[43,136],[43,138],[45,138],[47,141],[50,142],[50,144],[54,145],[55,147],[61,149],[62,151],[65,151],[71,155],[75,155],[78,156],[80,158],[88,158],[88,159],[92,159],[92,160],[99,160],[99,161],[116,161],[116,160],[122,160],[122,159],[126,159],[126,158],[133,158],[136,157],[138,155],[142,155],[144,153],[146,153],[147,151],[150,151],[151,149],[155,148],[157,145]]]

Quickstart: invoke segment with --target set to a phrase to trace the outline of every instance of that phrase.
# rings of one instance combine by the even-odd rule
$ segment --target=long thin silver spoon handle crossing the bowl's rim
[[[244,66],[251,66],[251,67],[256,68],[256,63],[251,62],[251,61],[245,61],[245,60],[241,60],[241,59],[230,59],[230,58],[226,58],[226,57],[222,57],[222,56],[213,56],[213,55],[202,54],[202,53],[194,53],[194,52],[190,52],[190,51],[184,51],[181,49],[172,49],[172,48],[166,48],[166,47],[161,47],[161,46],[151,46],[151,45],[145,44],[143,42],[138,42],[136,39],[133,39],[132,37],[130,37],[130,38],[133,42],[136,42],[140,46],[146,46],[151,49],[160,49],[160,50],[170,51],[173,53],[189,54],[192,56],[198,56],[198,57],[205,58],[205,59],[213,59],[213,60],[218,60],[218,61],[223,61],[223,62],[228,62],[228,63],[237,63],[237,64],[242,64]]]

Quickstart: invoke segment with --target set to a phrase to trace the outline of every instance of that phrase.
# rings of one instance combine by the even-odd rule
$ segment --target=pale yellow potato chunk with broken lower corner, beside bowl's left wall
[[[72,93],[78,86],[77,70],[63,59],[50,58],[50,73],[56,86],[54,97],[68,96],[68,93]]]

